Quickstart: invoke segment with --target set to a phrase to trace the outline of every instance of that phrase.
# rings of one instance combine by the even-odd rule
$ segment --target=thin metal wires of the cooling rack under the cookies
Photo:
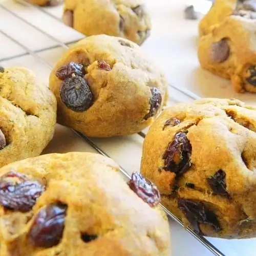
[[[17,2],[19,2],[20,4],[23,4],[25,6],[28,6],[30,8],[34,8],[37,10],[40,10],[41,12],[44,12],[47,15],[50,15],[51,17],[55,18],[58,20],[58,22],[61,22],[60,19],[56,18],[54,15],[46,12],[44,9],[41,9],[37,6],[33,6],[27,2],[25,2],[24,0],[17,0]],[[41,32],[42,34],[46,35],[47,37],[51,38],[54,42],[56,42],[57,47],[61,47],[65,50],[69,49],[68,44],[64,44],[62,41],[60,41],[59,39],[55,38],[54,36],[46,33],[44,30],[34,26],[33,24],[29,23],[26,19],[20,17],[19,15],[17,15],[15,12],[13,12],[12,10],[8,9],[7,7],[5,7],[3,4],[0,4],[0,9],[4,9],[5,11],[7,11],[9,14],[15,16],[16,18],[18,18],[19,20],[21,20],[22,22],[28,24],[29,26],[35,28],[36,30],[38,30],[39,32]],[[17,44],[19,47],[23,48],[26,53],[22,54],[22,55],[17,55],[17,56],[12,56],[10,58],[3,58],[0,59],[0,61],[4,61],[4,60],[10,60],[12,58],[15,57],[20,57],[20,56],[24,56],[24,55],[31,55],[33,56],[35,59],[39,60],[43,65],[45,65],[47,68],[49,68],[50,70],[52,70],[52,66],[45,61],[44,59],[42,59],[38,53],[45,51],[45,50],[49,50],[52,49],[54,47],[51,48],[47,48],[47,49],[41,49],[39,51],[33,51],[31,49],[29,49],[26,45],[21,44],[19,41],[17,41],[16,39],[14,39],[13,37],[11,37],[10,35],[8,35],[6,32],[0,30],[0,34],[4,35],[5,37],[9,38],[11,41],[13,41],[15,44]],[[71,41],[70,43],[73,43],[75,41]],[[199,96],[195,95],[193,92],[190,92],[189,90],[185,89],[185,88],[179,88],[173,84],[169,84],[170,87],[172,87],[173,89],[179,91],[180,93],[182,93],[183,95],[188,96],[191,99],[198,99],[200,98]],[[77,136],[79,136],[80,138],[82,138],[84,141],[86,141],[90,146],[92,146],[94,148],[94,150],[96,150],[99,154],[109,157],[108,154],[106,154],[103,150],[101,150],[100,147],[98,147],[91,139],[89,139],[87,136],[84,136],[83,134],[73,131]],[[145,133],[143,132],[139,132],[138,135],[142,138],[145,138]],[[127,178],[130,179],[130,175],[126,172],[126,170],[124,168],[122,168],[120,166],[120,172],[121,174]],[[171,219],[173,219],[175,222],[177,222],[178,224],[180,224],[181,226],[184,227],[183,223],[172,214],[172,212],[168,211],[163,205],[161,205],[161,207],[163,208],[163,210],[166,212],[167,216],[170,217]],[[219,249],[217,249],[214,245],[212,245],[208,240],[206,240],[204,237],[200,237],[198,236],[193,230],[191,230],[190,228],[186,228],[186,230],[191,234],[191,236],[193,236],[196,240],[198,240],[201,244],[203,244],[210,252],[212,252],[213,254],[217,255],[217,256],[225,256]]]

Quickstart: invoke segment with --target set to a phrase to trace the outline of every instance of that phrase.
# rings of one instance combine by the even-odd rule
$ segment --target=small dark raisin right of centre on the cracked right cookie
[[[226,174],[223,172],[223,170],[218,170],[214,176],[207,178],[207,182],[214,193],[229,197],[226,190]]]

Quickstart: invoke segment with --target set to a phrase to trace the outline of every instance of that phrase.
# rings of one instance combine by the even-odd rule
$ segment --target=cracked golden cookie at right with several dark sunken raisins
[[[165,109],[143,144],[141,173],[198,234],[256,237],[256,108],[200,99]]]

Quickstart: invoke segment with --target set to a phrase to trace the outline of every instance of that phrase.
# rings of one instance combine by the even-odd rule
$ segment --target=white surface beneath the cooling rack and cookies
[[[71,42],[82,36],[70,28],[63,26],[57,20],[30,7],[24,7],[12,3],[9,0],[0,0],[4,6],[11,8],[13,12],[23,17],[33,25],[57,37],[62,42]],[[232,91],[230,82],[220,79],[199,68],[196,54],[197,22],[183,19],[183,8],[186,1],[157,1],[147,0],[147,6],[152,14],[153,31],[151,37],[142,46],[144,51],[161,67],[170,83],[185,87],[201,97],[228,97],[239,98],[248,103],[255,102],[255,94],[236,94]],[[60,17],[62,8],[46,8],[53,15]],[[0,30],[15,37],[27,47],[40,51],[44,48],[54,47],[47,51],[41,51],[38,55],[50,65],[63,53],[62,48],[56,47],[49,37],[36,31],[34,28],[13,18],[10,13],[0,7]],[[10,42],[0,33],[0,59],[10,58],[26,51]],[[3,66],[25,66],[32,69],[44,81],[48,82],[50,69],[42,62],[29,55],[15,57],[2,61]],[[170,89],[170,103],[176,101],[191,100],[181,95],[174,89]],[[124,167],[129,173],[139,170],[142,138],[138,135],[111,138],[94,139],[94,142],[109,154],[117,163]],[[80,138],[68,129],[57,126],[54,139],[44,153],[90,151]],[[173,256],[208,256],[212,255],[204,246],[197,242],[181,226],[170,221],[172,229]],[[227,256],[252,256],[256,247],[256,240],[218,240],[210,239]]]

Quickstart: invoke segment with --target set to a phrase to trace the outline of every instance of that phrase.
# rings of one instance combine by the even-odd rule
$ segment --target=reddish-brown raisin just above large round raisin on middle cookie
[[[84,68],[81,64],[77,64],[75,62],[70,62],[67,65],[61,66],[56,71],[56,76],[60,80],[65,80],[69,77],[72,77],[72,75],[81,76],[83,77],[85,74]]]

